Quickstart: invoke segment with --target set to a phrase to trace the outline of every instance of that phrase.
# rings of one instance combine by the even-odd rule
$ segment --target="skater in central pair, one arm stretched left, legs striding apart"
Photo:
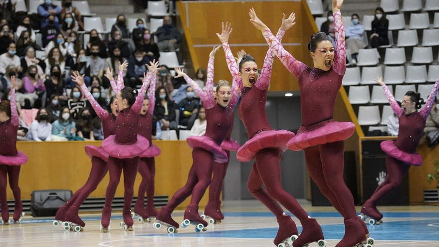
[[[223,163],[227,161],[226,153],[221,149],[221,142],[226,137],[231,127],[233,108],[239,99],[239,89],[228,83],[219,83],[214,99],[214,61],[215,54],[219,47],[214,48],[210,54],[208,65],[208,80],[203,91],[197,82],[189,78],[179,68],[176,68],[178,75],[184,77],[203,100],[206,109],[206,133],[203,136],[191,136],[186,141],[193,148],[192,158],[194,160],[189,172],[186,185],[179,189],[168,205],[163,207],[157,214],[154,227],[160,228],[161,224],[168,227],[168,232],[175,231],[179,224],[175,222],[171,213],[187,197],[192,194],[191,203],[185,211],[185,221],[189,220],[192,224],[197,224],[196,231],[206,231],[208,223],[204,221],[198,213],[198,205],[206,189],[211,183],[212,169],[214,161]],[[185,227],[187,224],[182,223]],[[202,224],[203,226],[200,226]]]

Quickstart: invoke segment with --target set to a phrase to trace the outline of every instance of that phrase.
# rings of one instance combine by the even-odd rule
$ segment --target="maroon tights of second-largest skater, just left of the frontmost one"
[[[282,188],[279,162],[282,152],[276,148],[265,148],[256,153],[256,162],[253,164],[248,177],[248,191],[267,207],[276,217],[283,214],[282,204],[300,221],[308,219],[296,199]],[[262,188],[262,184],[266,190]]]

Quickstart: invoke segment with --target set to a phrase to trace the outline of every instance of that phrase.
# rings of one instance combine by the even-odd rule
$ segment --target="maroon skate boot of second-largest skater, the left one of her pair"
[[[277,223],[279,224],[279,230],[277,231],[276,238],[273,243],[277,247],[291,247],[298,237],[296,224],[289,215],[282,215],[277,217]]]

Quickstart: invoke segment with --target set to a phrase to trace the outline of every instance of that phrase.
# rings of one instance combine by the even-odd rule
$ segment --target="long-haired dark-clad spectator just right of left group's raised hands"
[[[164,87],[156,90],[156,107],[154,108],[154,118],[160,123],[162,130],[177,130],[176,105],[169,99]]]

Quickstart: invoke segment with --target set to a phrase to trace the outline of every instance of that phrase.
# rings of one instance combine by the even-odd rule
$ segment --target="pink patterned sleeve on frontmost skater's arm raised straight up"
[[[343,76],[346,72],[346,42],[345,42],[345,26],[340,11],[332,14],[334,17],[334,33],[335,33],[335,54],[332,69],[339,75]]]

